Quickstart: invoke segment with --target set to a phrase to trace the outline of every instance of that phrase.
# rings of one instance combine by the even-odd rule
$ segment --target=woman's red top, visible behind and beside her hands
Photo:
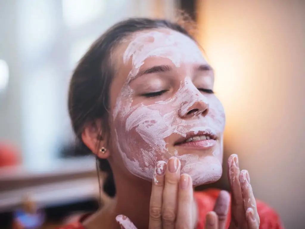
[[[220,190],[218,189],[209,189],[206,191],[195,192],[194,196],[198,205],[198,224],[196,229],[204,229],[206,221],[206,213],[212,211],[216,202],[216,199],[219,195]],[[260,229],[284,229],[281,224],[278,214],[264,202],[259,200],[257,203],[257,212],[260,216]],[[81,217],[79,221],[76,221],[72,224],[65,225],[58,229],[85,229],[82,226],[81,222],[86,217]],[[231,211],[229,210],[228,219],[231,218]],[[227,228],[229,227],[230,220],[227,221]]]

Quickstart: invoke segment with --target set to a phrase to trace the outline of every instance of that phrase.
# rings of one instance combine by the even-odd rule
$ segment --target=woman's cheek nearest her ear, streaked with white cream
[[[170,157],[164,139],[170,135],[171,119],[173,115],[163,117],[159,110],[144,105],[119,113],[114,119],[113,139],[131,173],[150,180],[156,162]]]

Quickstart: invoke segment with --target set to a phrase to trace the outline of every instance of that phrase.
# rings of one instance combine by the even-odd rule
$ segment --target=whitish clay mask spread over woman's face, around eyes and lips
[[[175,67],[207,64],[196,43],[187,36],[170,30],[135,33],[123,54],[123,63],[132,63],[132,69],[113,107],[112,137],[126,168],[146,180],[153,178],[157,161],[165,162],[172,156],[181,161],[181,173],[188,173],[194,185],[218,180],[222,174],[222,133],[225,115],[220,101],[213,94],[203,94],[186,74],[179,81],[174,96],[150,105],[133,104],[134,91],[128,82],[134,79],[148,58],[169,59]],[[181,118],[190,107],[204,102],[209,107],[206,116]],[[219,139],[213,152],[183,150],[167,142],[169,136],[208,131]]]

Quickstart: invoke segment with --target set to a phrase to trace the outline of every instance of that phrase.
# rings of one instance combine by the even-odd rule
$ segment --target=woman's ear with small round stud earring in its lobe
[[[81,139],[84,144],[99,158],[106,159],[109,157],[109,150],[106,147],[106,139],[101,136],[101,120],[97,119],[94,122],[88,122],[83,132],[81,133]],[[106,151],[102,151],[102,147]]]

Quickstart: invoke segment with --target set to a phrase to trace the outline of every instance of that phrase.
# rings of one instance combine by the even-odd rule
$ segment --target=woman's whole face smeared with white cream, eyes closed
[[[196,42],[169,29],[141,31],[112,56],[112,153],[146,180],[157,161],[172,156],[194,185],[218,180],[225,115],[212,91],[213,71]]]

